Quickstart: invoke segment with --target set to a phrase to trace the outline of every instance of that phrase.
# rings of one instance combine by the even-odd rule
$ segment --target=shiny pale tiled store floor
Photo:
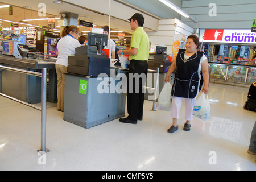
[[[248,88],[210,84],[212,117],[194,117],[183,131],[167,133],[171,113],[151,111],[137,125],[118,119],[90,129],[63,120],[47,103],[46,147],[40,155],[40,111],[0,96],[0,170],[256,170],[247,154],[256,113],[243,109]]]

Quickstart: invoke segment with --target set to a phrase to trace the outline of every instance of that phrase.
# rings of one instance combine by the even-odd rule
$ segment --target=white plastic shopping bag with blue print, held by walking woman
[[[210,118],[210,102],[207,94],[202,93],[201,96],[195,101],[193,115],[203,119],[204,121]]]

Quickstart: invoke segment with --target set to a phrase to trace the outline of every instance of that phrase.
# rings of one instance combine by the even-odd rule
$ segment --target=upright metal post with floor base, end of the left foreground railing
[[[47,69],[42,68],[42,81],[41,81],[41,150],[49,152],[46,149],[46,90],[47,90]]]

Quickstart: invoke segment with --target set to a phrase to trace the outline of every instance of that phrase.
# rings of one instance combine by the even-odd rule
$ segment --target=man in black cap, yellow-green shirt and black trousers
[[[142,120],[144,89],[147,76],[147,60],[149,56],[149,38],[143,30],[144,17],[135,13],[130,19],[131,47],[128,50],[119,50],[118,55],[129,55],[129,76],[127,87],[127,111],[129,116],[120,118],[120,122],[137,124],[137,120]]]

